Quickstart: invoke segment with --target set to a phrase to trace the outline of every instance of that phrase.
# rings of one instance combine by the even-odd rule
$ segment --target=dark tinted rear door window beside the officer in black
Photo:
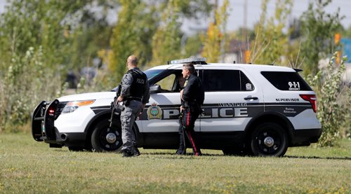
[[[202,84],[206,92],[251,91],[253,84],[239,70],[205,69]]]

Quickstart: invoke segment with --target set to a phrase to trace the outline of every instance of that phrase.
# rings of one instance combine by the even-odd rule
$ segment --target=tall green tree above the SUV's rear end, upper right
[[[311,2],[307,11],[301,18],[303,25],[303,44],[301,54],[305,57],[304,74],[315,75],[318,71],[318,62],[320,59],[333,53],[333,36],[340,30],[340,8],[334,14],[326,13],[326,6],[331,0],[316,0]]]

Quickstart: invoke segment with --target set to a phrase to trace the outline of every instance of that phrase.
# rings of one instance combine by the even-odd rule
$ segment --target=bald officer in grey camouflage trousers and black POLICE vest
[[[124,157],[138,156],[140,152],[137,148],[133,124],[135,118],[145,108],[149,102],[149,82],[146,75],[138,65],[138,59],[131,55],[127,59],[128,71],[124,74],[121,81],[121,95],[117,98],[118,102],[124,102],[124,110],[121,111],[122,127],[122,152]]]

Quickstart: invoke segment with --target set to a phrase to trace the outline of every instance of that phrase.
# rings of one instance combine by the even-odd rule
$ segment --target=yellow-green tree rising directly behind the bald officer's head
[[[119,81],[126,71],[129,55],[138,56],[140,66],[151,56],[151,40],[158,27],[156,6],[141,0],[121,0],[122,9],[110,41],[112,55],[108,67]]]

